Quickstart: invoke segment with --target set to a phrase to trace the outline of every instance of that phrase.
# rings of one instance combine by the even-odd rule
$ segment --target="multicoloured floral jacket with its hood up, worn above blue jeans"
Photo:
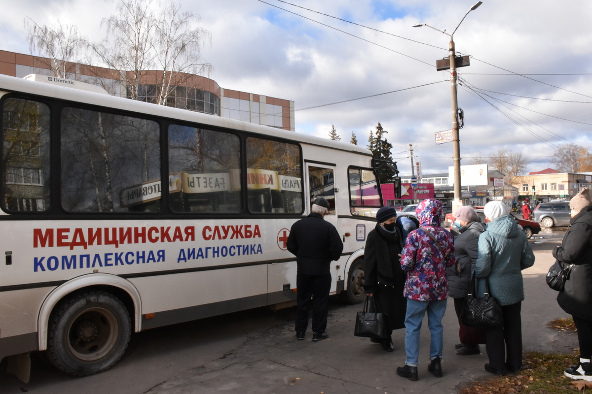
[[[403,295],[416,301],[439,301],[448,297],[446,267],[455,263],[452,235],[440,226],[442,204],[433,198],[423,200],[416,209],[420,228],[409,233],[401,268],[407,271]],[[432,233],[440,248],[426,230]]]

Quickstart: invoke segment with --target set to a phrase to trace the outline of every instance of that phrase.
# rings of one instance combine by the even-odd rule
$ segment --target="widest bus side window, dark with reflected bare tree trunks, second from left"
[[[73,212],[160,209],[156,122],[78,108],[62,112],[62,207]]]

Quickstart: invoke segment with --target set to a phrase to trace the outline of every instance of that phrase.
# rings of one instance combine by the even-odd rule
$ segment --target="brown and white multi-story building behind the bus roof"
[[[0,50],[0,74],[20,78],[28,74],[51,75],[50,62],[49,58]],[[124,71],[60,63],[60,69],[68,71],[67,79],[98,84],[111,95],[129,97]],[[142,71],[138,100],[154,101],[156,81],[161,74],[162,71]],[[291,100],[223,88],[214,80],[198,75],[182,74],[176,80],[178,85],[166,100],[168,106],[295,131],[294,102]]]

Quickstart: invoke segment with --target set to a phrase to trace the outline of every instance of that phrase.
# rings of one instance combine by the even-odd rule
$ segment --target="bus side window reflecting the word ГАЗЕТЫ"
[[[169,128],[170,209],[238,212],[240,141],[225,132],[189,126]]]

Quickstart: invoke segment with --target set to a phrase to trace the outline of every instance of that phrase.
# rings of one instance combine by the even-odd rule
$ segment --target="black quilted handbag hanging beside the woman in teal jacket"
[[[489,295],[489,282],[485,278],[485,293],[483,297],[477,298],[477,281],[472,279],[471,292],[466,296],[462,305],[462,324],[468,327],[491,328],[503,323],[500,302]]]

